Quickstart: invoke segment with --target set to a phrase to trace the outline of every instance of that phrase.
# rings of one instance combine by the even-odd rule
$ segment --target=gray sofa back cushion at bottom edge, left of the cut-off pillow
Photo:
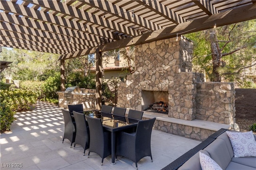
[[[206,152],[205,150],[200,150],[199,152],[202,152],[207,156],[210,156],[209,153]],[[178,168],[178,170],[202,170],[200,165],[199,152],[194,154],[194,156],[187,160],[180,168]]]

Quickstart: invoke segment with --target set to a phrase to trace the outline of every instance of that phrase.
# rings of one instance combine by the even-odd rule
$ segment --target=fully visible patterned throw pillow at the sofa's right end
[[[231,142],[234,157],[256,157],[256,141],[254,139],[252,131],[250,132],[229,132],[229,140]]]

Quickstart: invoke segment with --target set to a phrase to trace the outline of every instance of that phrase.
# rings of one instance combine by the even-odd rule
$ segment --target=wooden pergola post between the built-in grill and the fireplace
[[[102,96],[102,52],[96,51],[96,110],[101,110],[101,96]]]

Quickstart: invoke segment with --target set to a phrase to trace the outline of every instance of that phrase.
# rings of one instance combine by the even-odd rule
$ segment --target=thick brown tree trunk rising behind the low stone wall
[[[222,53],[220,50],[220,46],[218,44],[216,31],[215,29],[210,29],[210,43],[211,43],[211,51],[212,51],[212,82],[221,82],[221,75],[218,72],[218,68],[220,67]]]

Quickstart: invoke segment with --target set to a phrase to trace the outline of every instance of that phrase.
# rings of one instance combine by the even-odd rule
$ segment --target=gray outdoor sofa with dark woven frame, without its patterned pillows
[[[220,129],[162,170],[202,170],[199,152],[212,158],[223,170],[255,170],[256,157],[234,157],[232,144],[226,131],[237,132],[229,131],[228,129]],[[253,140],[253,138],[253,147],[250,148],[250,151],[254,152],[255,155],[256,135],[253,135],[251,140]]]

